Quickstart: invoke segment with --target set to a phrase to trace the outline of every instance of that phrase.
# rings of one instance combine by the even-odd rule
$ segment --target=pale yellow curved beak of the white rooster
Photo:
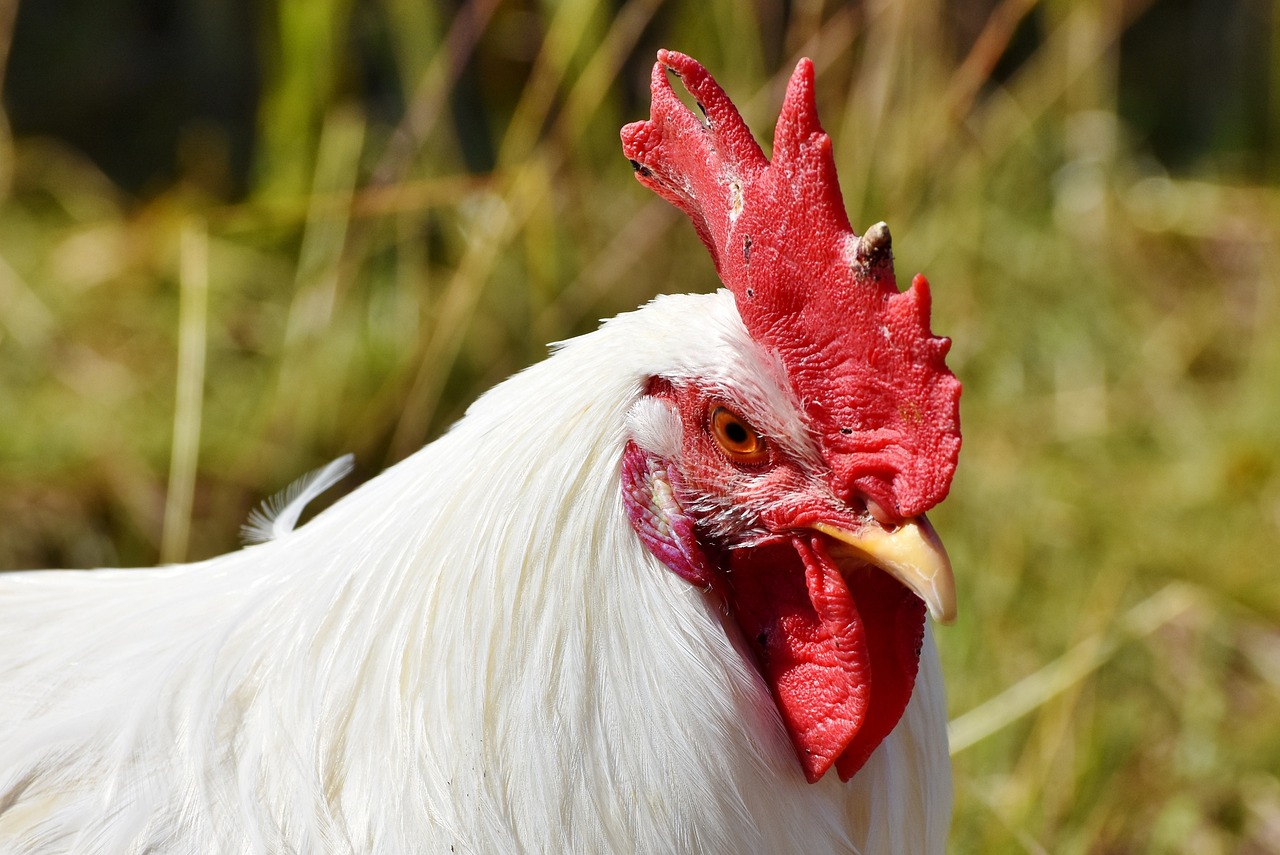
[[[846,554],[876,564],[910,587],[924,600],[929,617],[938,623],[956,619],[956,582],[951,559],[924,515],[906,520],[892,531],[874,522],[858,531],[827,522],[814,522],[812,527],[842,544]],[[837,545],[832,558],[838,555]]]

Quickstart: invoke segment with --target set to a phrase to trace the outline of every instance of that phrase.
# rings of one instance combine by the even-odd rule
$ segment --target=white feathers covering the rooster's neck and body
[[[658,375],[796,421],[731,294],[663,297],[296,531],[0,575],[0,851],[943,851],[928,632],[893,733],[806,783],[737,626],[627,523]]]

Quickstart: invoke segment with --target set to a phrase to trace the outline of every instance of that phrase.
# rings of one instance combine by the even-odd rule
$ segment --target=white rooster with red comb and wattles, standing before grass
[[[771,163],[660,51],[622,131],[726,289],[558,346],[265,543],[0,576],[0,851],[942,851],[960,387],[813,87]]]

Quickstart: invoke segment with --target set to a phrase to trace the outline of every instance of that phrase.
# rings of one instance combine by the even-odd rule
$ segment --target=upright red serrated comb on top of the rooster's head
[[[652,118],[622,128],[622,150],[641,184],[689,215],[746,329],[782,360],[837,493],[913,517],[946,497],[960,453],[951,342],[929,332],[924,276],[897,291],[888,228],[850,228],[813,79],[800,60],[771,163],[707,69],[660,50]]]

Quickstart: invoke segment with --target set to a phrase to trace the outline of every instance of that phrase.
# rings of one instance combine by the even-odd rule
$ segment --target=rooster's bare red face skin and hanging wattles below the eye
[[[687,581],[723,598],[773,692],[805,777],[847,781],[897,723],[915,682],[924,603],[883,571],[837,563],[809,526],[869,525],[782,442],[744,465],[719,445],[719,401],[695,387],[650,387],[678,413],[682,449],[664,461],[634,443],[623,504],[641,540]],[[829,477],[829,474],[828,474]],[[654,500],[654,479],[673,503]],[[664,493],[663,493],[664,494]],[[873,525],[873,523],[870,523]]]

